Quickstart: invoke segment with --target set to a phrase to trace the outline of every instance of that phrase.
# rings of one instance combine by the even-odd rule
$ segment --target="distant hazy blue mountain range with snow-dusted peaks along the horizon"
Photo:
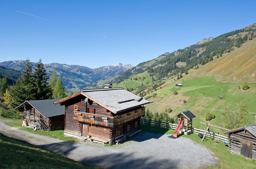
[[[24,69],[25,61],[4,61],[0,63],[0,66],[15,69],[16,71],[22,71]],[[32,69],[35,70],[36,63],[31,62]],[[44,64],[48,76],[50,77],[53,70],[57,75],[62,77],[62,83],[64,87],[72,92],[76,92],[79,89],[86,88],[93,82],[108,79],[114,77],[128,69],[132,68],[132,65],[109,65],[102,66],[97,69],[90,69],[81,65],[67,65],[60,63]]]

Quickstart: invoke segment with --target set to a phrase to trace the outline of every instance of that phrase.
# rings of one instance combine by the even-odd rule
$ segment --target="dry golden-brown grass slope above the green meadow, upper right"
[[[215,76],[217,81],[256,83],[256,38],[243,44],[223,57],[203,65],[197,71],[190,71],[183,79]]]

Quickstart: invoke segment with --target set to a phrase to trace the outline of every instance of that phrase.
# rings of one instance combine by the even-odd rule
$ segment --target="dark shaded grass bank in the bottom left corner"
[[[100,169],[0,135],[1,169]]]

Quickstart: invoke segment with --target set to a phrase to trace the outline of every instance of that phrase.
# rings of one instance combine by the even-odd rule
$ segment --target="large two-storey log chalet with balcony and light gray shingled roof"
[[[141,131],[148,103],[124,88],[103,88],[82,90],[55,104],[65,105],[65,135],[118,144]]]

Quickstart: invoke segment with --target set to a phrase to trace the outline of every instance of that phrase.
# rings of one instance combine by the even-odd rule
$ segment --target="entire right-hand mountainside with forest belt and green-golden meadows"
[[[151,101],[146,107],[152,112],[171,108],[169,115],[174,116],[189,109],[197,116],[193,127],[199,128],[203,128],[200,122],[206,122],[207,112],[216,116],[211,120],[213,125],[224,127],[223,106],[231,104],[231,111],[235,111],[237,104],[247,100],[247,123],[254,123],[256,24],[203,41],[144,61],[104,82]],[[248,90],[240,88],[244,81],[249,83]],[[180,83],[183,86],[176,88],[175,84]]]

